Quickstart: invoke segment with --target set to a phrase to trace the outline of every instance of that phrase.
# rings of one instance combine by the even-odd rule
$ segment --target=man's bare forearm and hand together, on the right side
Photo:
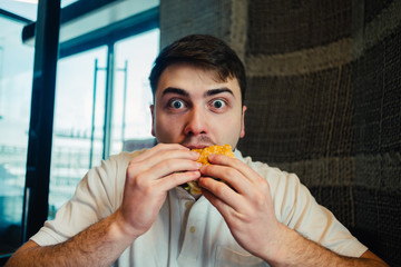
[[[277,221],[268,182],[238,159],[211,155],[200,168],[204,196],[222,214],[236,241],[272,266],[388,266],[371,251],[340,256]],[[222,179],[225,182],[213,178]]]

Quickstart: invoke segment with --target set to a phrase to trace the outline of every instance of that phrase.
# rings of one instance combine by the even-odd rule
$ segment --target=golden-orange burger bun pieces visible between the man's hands
[[[212,154],[225,155],[225,156],[232,157],[232,158],[235,157],[232,146],[229,146],[229,145],[224,145],[224,146],[215,145],[215,146],[211,146],[211,147],[206,147],[206,148],[202,148],[202,149],[193,149],[193,151],[197,151],[199,154],[199,158],[196,161],[200,162],[203,165],[211,164],[208,161],[208,156]],[[202,194],[200,187],[198,186],[197,181],[189,181],[187,185],[188,186],[186,187],[186,189],[190,194]]]

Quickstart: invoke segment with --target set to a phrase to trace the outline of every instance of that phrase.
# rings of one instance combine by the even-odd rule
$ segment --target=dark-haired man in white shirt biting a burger
[[[385,266],[295,175],[238,150],[196,162],[190,149],[235,148],[245,135],[245,71],[224,42],[174,42],[156,59],[150,85],[159,145],[90,170],[9,266]],[[203,196],[182,187],[193,180]]]

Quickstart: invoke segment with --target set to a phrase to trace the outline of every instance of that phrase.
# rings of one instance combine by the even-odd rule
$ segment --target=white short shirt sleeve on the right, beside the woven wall
[[[256,169],[270,182],[275,215],[282,224],[343,256],[360,257],[368,250],[329,209],[316,202],[296,175],[266,165]]]

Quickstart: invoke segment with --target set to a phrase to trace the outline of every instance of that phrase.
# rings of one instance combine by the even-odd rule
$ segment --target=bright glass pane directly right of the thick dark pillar
[[[106,55],[101,47],[58,61],[49,218],[72,197],[91,165],[100,164]]]

